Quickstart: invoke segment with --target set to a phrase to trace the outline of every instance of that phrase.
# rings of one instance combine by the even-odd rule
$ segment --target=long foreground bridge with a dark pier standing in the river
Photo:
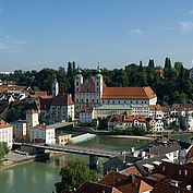
[[[98,148],[91,148],[91,147],[84,147],[84,146],[61,146],[61,145],[52,145],[52,144],[35,144],[35,143],[14,143],[16,146],[28,146],[40,148],[40,149],[47,149],[47,150],[53,150],[53,152],[64,152],[64,153],[71,153],[71,154],[81,154],[81,155],[87,155],[89,156],[89,166],[96,166],[98,164],[98,157],[105,157],[110,158],[114,156],[120,156],[120,153],[112,152],[112,150],[105,150],[105,149],[98,149]]]

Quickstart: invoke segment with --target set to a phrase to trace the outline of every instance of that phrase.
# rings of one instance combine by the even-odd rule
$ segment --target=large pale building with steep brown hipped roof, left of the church
[[[74,120],[74,102],[69,94],[60,94],[50,104],[49,122],[70,122]]]

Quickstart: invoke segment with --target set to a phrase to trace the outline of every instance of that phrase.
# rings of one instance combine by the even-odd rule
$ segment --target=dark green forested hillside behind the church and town
[[[159,71],[162,70],[162,75]],[[60,93],[71,93],[74,91],[74,76],[76,73],[75,62],[69,62],[65,71],[64,67],[59,70],[43,69],[40,71],[15,70],[13,74],[4,76],[16,81],[20,85],[32,86],[35,91],[51,92],[51,83],[57,77],[60,84]],[[96,70],[82,69],[84,79],[95,75]],[[129,64],[123,69],[101,69],[104,80],[107,86],[150,86],[158,96],[158,102],[161,105],[182,102],[193,99],[193,81],[189,79],[190,69],[185,69],[181,62],[171,64],[169,58],[166,58],[164,68],[155,65],[154,60],[149,60],[147,65]]]

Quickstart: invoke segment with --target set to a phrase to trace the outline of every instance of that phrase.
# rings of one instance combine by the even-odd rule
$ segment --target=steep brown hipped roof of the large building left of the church
[[[61,94],[53,97],[51,106],[69,106],[74,105],[69,94]]]

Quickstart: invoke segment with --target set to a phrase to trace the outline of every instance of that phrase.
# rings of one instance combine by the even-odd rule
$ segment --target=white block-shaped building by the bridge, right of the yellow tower
[[[55,128],[40,124],[29,129],[29,141],[33,143],[56,144]]]

